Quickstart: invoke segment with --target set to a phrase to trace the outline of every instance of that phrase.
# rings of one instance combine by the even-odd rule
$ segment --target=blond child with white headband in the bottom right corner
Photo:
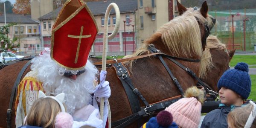
[[[236,108],[227,115],[229,128],[256,128],[256,105],[250,104],[241,108]]]

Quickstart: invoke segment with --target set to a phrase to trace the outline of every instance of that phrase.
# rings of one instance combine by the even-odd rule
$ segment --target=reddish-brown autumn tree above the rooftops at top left
[[[16,14],[30,14],[30,0],[16,0],[12,11]]]

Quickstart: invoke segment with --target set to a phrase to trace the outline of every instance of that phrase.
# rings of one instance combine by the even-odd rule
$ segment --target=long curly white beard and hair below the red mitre
[[[76,74],[79,70],[67,70],[60,67],[50,58],[49,51],[32,60],[31,70],[37,73],[36,78],[43,83],[47,96],[65,93],[64,104],[71,115],[85,105],[92,104],[93,81],[97,79],[98,70],[87,60],[85,72],[76,80],[65,77],[65,72]]]

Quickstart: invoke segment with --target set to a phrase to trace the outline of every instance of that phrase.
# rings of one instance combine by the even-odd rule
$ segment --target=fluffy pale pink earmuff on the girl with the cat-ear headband
[[[60,112],[55,118],[55,128],[72,128],[73,118],[69,113]]]

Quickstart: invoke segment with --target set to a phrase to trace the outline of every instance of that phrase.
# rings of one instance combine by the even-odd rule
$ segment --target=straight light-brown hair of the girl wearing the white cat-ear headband
[[[61,112],[58,102],[50,97],[37,99],[26,117],[26,124],[43,128],[54,128],[55,117]]]

